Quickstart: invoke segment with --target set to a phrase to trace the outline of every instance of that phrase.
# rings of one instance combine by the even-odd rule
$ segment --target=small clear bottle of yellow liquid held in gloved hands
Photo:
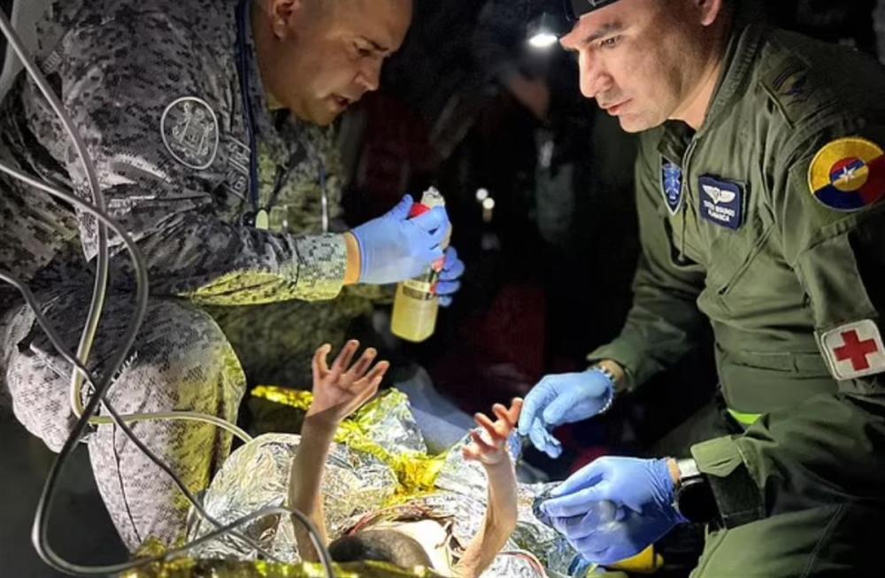
[[[445,206],[442,193],[431,187],[424,191],[421,202],[412,205],[409,217],[417,217],[434,207]],[[451,229],[441,244],[443,250],[449,246]],[[436,282],[443,270],[444,258],[427,267],[424,274],[403,281],[396,286],[393,300],[393,315],[390,331],[400,339],[419,343],[434,335],[436,314],[439,312],[439,299],[436,297]]]

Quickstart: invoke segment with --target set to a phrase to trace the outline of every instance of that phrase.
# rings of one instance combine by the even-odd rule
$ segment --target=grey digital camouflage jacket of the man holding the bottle
[[[109,212],[142,250],[153,295],[207,304],[337,295],[346,263],[340,235],[242,226],[253,207],[234,0],[58,3],[40,37],[39,64],[86,139]],[[294,164],[307,151],[273,126],[247,53],[256,87],[247,104],[260,142],[270,158]],[[0,127],[0,157],[90,197],[73,145],[27,78],[4,100]],[[95,257],[93,219],[8,179],[0,187],[4,269],[39,279],[79,235]],[[119,240],[112,251],[117,282],[131,283]]]

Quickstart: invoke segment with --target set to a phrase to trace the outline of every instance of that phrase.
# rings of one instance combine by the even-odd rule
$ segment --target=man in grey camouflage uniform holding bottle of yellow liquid
[[[277,222],[273,189],[257,186],[259,149],[261,178],[280,175],[276,189],[319,159],[302,131],[328,125],[377,88],[411,13],[411,0],[53,5],[38,65],[84,136],[108,211],[135,239],[150,275],[144,325],[107,397],[120,413],[191,410],[235,420],[246,385],[241,362],[200,305],[335,297],[345,283],[399,281],[442,255],[442,211],[419,224],[406,220],[404,202],[346,234],[295,236]],[[72,143],[26,76],[5,98],[0,125],[5,164],[91,198]],[[263,230],[272,219],[279,227]],[[96,257],[94,220],[0,180],[0,268],[31,286],[69,351],[89,309],[84,250]],[[89,362],[99,375],[134,305],[132,266],[113,237],[111,254],[112,286]],[[0,401],[58,451],[74,422],[71,367],[33,313],[0,290]],[[192,422],[134,430],[194,490],[208,484],[230,445],[229,435]],[[187,504],[125,435],[97,428],[89,455],[129,548],[148,536],[180,536]]]

